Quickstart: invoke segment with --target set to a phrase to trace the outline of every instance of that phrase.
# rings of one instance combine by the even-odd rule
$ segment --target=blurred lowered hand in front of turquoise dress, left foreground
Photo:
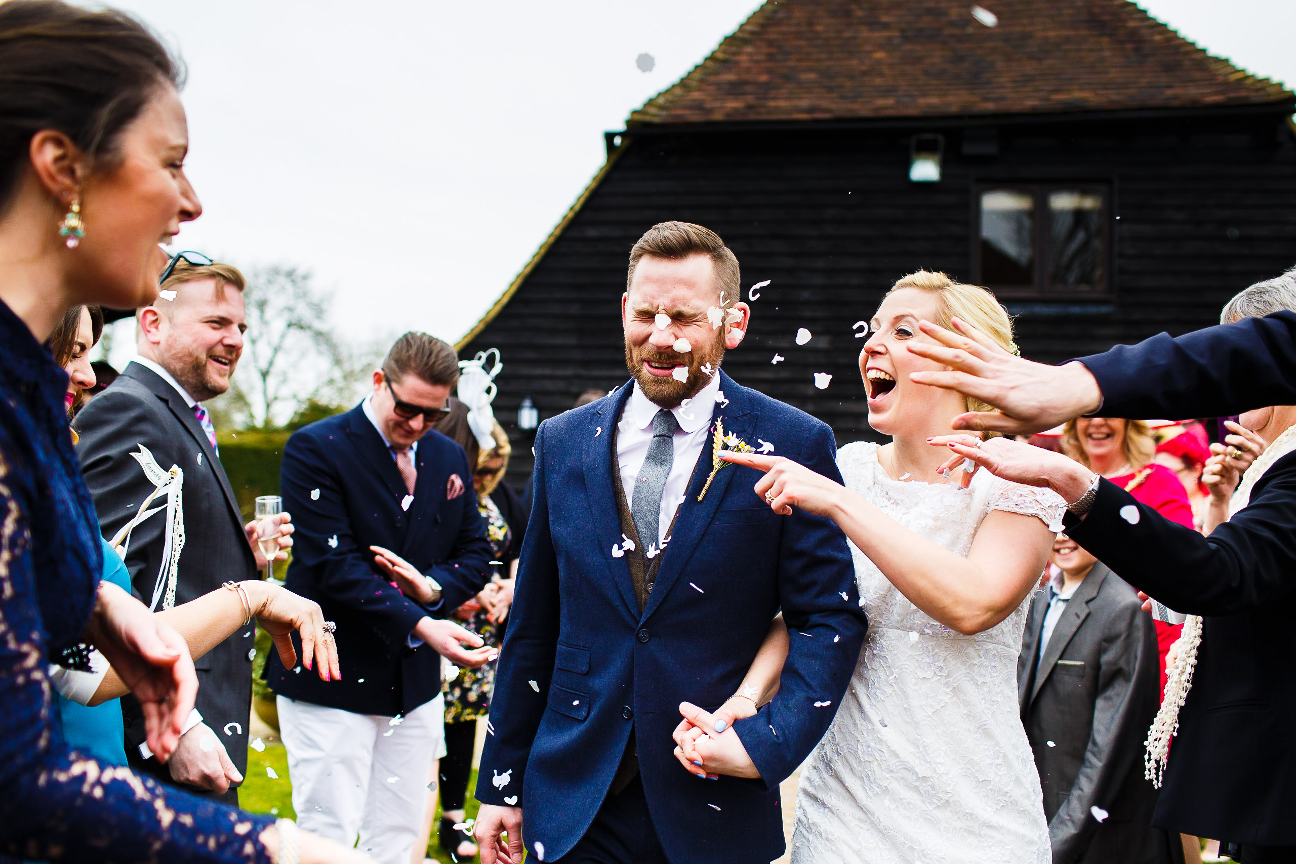
[[[101,582],[86,641],[108,658],[139,699],[149,750],[158,762],[170,759],[198,693],[184,637],[139,600]]]

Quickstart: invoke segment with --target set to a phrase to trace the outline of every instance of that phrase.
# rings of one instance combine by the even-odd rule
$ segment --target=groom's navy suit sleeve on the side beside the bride
[[[807,438],[797,461],[841,483],[832,431],[818,424]],[[779,597],[788,627],[788,658],[774,699],[734,724],[771,790],[805,762],[828,731],[868,630],[846,535],[832,519],[798,508],[781,518]]]

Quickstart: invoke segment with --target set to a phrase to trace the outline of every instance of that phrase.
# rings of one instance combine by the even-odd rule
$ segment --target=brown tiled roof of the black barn
[[[1274,104],[1128,0],[769,0],[629,126]],[[986,16],[981,16],[982,18]]]

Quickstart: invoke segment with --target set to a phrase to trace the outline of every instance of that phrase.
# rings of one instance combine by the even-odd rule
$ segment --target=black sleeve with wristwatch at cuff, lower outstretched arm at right
[[[1137,513],[1135,523],[1122,513]],[[1113,573],[1181,613],[1231,615],[1296,589],[1296,453],[1274,462],[1249,505],[1208,538],[1105,479],[1089,514],[1064,521],[1067,534]]]

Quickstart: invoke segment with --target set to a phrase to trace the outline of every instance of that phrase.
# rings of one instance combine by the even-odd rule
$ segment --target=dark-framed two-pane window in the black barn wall
[[[1107,192],[1013,185],[980,190],[980,280],[1004,294],[1105,294]]]

